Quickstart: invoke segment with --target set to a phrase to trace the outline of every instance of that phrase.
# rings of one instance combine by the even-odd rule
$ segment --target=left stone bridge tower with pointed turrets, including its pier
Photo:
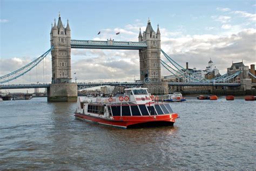
[[[71,30],[69,20],[66,27],[58,18],[51,28],[52,84],[48,90],[48,101],[76,101],[77,84],[71,83]]]

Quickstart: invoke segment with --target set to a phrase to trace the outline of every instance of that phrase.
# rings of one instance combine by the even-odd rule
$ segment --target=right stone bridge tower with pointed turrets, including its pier
[[[144,87],[149,88],[151,94],[167,94],[168,83],[161,81],[161,37],[159,25],[157,32],[151,26],[150,19],[147,21],[146,31],[139,31],[139,42],[147,42],[147,47],[139,50],[140,81]]]

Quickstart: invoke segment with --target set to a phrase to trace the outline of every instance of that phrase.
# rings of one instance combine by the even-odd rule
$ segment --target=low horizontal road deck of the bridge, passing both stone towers
[[[0,89],[28,89],[28,88],[48,88],[50,83],[46,84],[10,84],[0,85]],[[240,83],[183,83],[183,82],[169,82],[169,86],[226,86],[239,87]],[[123,86],[123,87],[140,87],[142,82],[102,82],[102,83],[78,83],[78,89],[91,88],[97,86]]]

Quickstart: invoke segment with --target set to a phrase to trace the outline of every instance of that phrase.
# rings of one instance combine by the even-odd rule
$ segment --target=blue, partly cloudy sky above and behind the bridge
[[[69,19],[71,39],[138,41],[150,18],[159,24],[161,48],[185,67],[205,69],[210,58],[220,74],[233,62],[256,63],[255,1],[5,1],[0,0],[0,76],[50,48],[51,23]],[[120,32],[116,35],[116,32]],[[164,55],[161,55],[164,59]],[[78,82],[139,79],[138,51],[72,49]],[[36,72],[37,70],[37,72]],[[37,73],[37,74],[36,74]],[[44,73],[44,74],[42,74]],[[170,75],[164,68],[162,76]],[[75,75],[73,76],[75,79]],[[30,75],[10,82],[50,82],[51,56]]]

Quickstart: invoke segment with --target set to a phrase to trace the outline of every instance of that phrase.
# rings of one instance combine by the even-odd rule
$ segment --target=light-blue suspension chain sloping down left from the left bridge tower
[[[34,68],[35,66],[37,66],[38,63],[41,62],[49,54],[49,52],[51,52],[52,49],[53,49],[53,46],[48,51],[46,51],[41,56],[39,56],[37,59],[30,62],[28,65],[25,65],[24,67],[19,68],[19,69],[15,70],[14,72],[11,72],[9,74],[1,76],[0,84],[15,80],[18,77],[30,72],[30,70],[32,68]],[[29,75],[30,75],[30,73],[29,73]]]

